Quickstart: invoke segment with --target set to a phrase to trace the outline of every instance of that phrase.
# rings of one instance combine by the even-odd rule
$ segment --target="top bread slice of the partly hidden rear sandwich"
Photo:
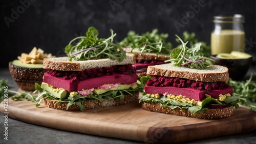
[[[133,53],[136,60],[155,60],[155,61],[166,61],[170,59],[169,55],[153,54],[153,53]]]

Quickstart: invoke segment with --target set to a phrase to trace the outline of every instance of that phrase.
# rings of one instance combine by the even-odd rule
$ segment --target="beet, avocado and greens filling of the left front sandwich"
[[[83,71],[48,70],[42,84],[35,85],[37,91],[42,91],[42,99],[68,102],[67,109],[76,104],[81,111],[87,100],[123,100],[143,89],[132,64]]]

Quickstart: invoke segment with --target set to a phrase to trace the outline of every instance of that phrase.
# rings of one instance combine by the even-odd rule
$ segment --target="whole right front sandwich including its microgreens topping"
[[[171,52],[170,63],[148,66],[147,76],[141,77],[145,84],[139,100],[142,108],[200,119],[232,116],[240,98],[233,96],[227,84],[228,68],[212,65],[214,60],[204,57],[200,46],[188,48],[180,41],[183,47]]]

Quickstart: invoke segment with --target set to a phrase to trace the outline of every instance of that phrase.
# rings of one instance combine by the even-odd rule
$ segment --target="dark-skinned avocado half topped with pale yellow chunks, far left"
[[[29,53],[23,52],[16,60],[9,62],[9,71],[13,80],[23,91],[35,91],[35,82],[41,84],[47,71],[42,68],[44,58],[55,57],[40,48],[33,47]]]

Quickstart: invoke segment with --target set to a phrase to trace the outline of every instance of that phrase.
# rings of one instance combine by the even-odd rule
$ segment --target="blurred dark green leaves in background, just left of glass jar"
[[[203,53],[203,55],[206,57],[210,56],[210,46],[206,42],[196,39],[195,33],[188,33],[187,31],[183,32],[183,40],[185,42],[189,42],[188,47],[196,47],[200,45],[200,51]],[[177,38],[176,41],[179,42],[180,40]],[[182,44],[177,47],[182,47]]]

